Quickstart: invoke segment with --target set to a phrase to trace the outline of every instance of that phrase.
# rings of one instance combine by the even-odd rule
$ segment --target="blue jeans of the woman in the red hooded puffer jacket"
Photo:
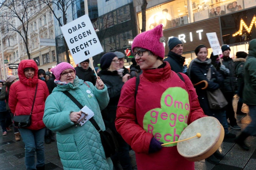
[[[31,130],[20,128],[20,135],[25,143],[25,165],[27,170],[36,170],[36,166],[45,165],[45,128]],[[35,165],[35,152],[37,153],[37,165]]]

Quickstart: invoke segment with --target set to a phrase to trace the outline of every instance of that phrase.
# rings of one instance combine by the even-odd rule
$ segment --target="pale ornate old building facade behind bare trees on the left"
[[[39,3],[37,5],[39,6],[34,7],[38,9],[36,10],[37,12],[31,14],[29,21],[25,22],[25,25],[28,25],[28,48],[30,58],[37,63],[40,69],[48,71],[57,63],[53,14],[44,4]],[[16,8],[19,9],[18,7]],[[3,5],[0,7],[0,10],[2,12],[7,10],[8,12],[8,9],[4,9]],[[4,19],[0,18],[0,20]],[[18,21],[18,18],[14,17],[12,22],[14,23],[15,29],[22,32],[23,25]],[[5,29],[4,33],[1,34],[3,42],[1,49],[3,49],[3,52],[0,56],[1,59],[7,61],[4,66],[1,64],[1,73],[5,69],[6,75],[15,75],[18,78],[18,64],[21,60],[28,59],[25,42],[18,32],[8,31],[8,26],[4,25],[4,22],[0,23],[1,30],[4,31]],[[4,75],[2,74],[1,79],[4,79]]]

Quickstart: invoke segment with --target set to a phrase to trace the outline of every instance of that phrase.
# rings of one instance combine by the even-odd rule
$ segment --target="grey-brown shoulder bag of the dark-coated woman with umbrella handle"
[[[211,80],[211,67],[209,68],[206,77],[208,80]],[[206,94],[210,109],[222,109],[228,104],[225,96],[220,89],[213,91],[206,90]]]

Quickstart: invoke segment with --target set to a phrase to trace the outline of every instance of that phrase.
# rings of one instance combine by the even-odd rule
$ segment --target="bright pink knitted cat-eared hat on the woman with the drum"
[[[151,51],[154,55],[164,59],[165,48],[160,38],[163,37],[163,25],[158,25],[154,29],[145,31],[137,35],[132,42],[132,52],[134,48],[140,47]]]

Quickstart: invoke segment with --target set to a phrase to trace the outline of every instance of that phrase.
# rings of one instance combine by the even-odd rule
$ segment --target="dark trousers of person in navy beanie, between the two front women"
[[[116,140],[118,142],[118,153],[111,156],[114,167],[116,168],[116,170],[118,170],[116,165],[119,160],[123,170],[132,170],[131,160],[129,156],[129,145],[119,134],[116,135]]]

